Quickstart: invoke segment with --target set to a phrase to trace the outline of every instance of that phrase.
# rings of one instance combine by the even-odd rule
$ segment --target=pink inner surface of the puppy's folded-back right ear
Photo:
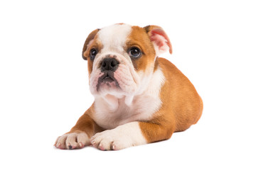
[[[157,28],[151,30],[150,40],[156,43],[156,45],[159,47],[159,50],[165,51],[169,47],[169,52],[172,52],[171,42],[166,33],[164,33],[164,30]],[[166,45],[168,47],[166,47]]]

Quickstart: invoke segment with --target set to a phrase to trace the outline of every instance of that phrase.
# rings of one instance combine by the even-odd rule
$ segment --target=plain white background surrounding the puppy
[[[0,169],[256,169],[252,1],[1,1]],[[90,107],[82,45],[95,28],[154,24],[203,98],[170,140],[102,152],[55,149]]]

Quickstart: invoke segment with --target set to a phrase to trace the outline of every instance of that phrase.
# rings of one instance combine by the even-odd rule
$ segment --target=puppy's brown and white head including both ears
[[[171,53],[171,42],[159,26],[115,24],[92,31],[82,50],[92,95],[142,93],[156,69],[156,57],[166,51]]]

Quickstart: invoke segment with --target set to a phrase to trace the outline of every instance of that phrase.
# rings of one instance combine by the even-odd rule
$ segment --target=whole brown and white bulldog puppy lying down
[[[159,26],[115,24],[92,31],[82,57],[95,102],[55,147],[124,149],[167,140],[197,123],[203,102],[161,53],[172,52]]]

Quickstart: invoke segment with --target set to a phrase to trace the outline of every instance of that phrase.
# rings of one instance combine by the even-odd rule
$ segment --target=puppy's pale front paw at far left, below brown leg
[[[90,145],[90,140],[85,132],[71,132],[62,135],[54,144],[58,149],[80,149],[87,145]]]

